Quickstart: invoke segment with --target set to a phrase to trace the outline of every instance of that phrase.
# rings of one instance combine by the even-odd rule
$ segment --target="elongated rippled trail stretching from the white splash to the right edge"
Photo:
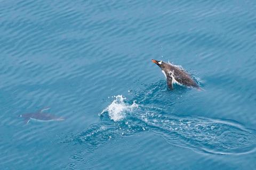
[[[245,154],[255,149],[255,131],[236,122],[154,112],[147,112],[141,118],[171,145],[225,155]]]

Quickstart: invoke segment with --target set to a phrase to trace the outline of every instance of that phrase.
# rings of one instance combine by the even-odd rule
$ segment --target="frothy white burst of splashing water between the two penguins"
[[[117,95],[114,97],[114,101],[112,101],[112,103],[107,108],[105,108],[100,113],[100,115],[108,112],[110,119],[116,122],[123,120],[127,112],[132,111],[134,108],[138,108],[138,105],[135,103],[135,101],[133,101],[132,105],[125,103],[125,97],[123,97],[123,95]]]

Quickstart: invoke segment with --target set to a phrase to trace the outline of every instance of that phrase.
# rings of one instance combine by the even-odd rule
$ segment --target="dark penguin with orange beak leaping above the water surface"
[[[173,89],[172,85],[173,83],[176,83],[182,86],[193,87],[201,90],[201,88],[190,77],[190,75],[186,71],[180,69],[178,66],[172,65],[170,63],[165,63],[163,61],[151,61],[153,63],[156,63],[162,69],[162,72],[167,79],[167,85],[170,89]]]

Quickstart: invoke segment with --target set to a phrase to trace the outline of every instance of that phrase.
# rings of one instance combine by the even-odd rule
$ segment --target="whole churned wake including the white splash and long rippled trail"
[[[154,91],[154,90],[153,90]],[[171,145],[212,154],[243,154],[255,149],[252,129],[227,120],[165,114],[154,106],[126,101],[122,95],[100,113],[100,122],[66,142],[87,145],[89,152],[111,139],[152,131]]]

